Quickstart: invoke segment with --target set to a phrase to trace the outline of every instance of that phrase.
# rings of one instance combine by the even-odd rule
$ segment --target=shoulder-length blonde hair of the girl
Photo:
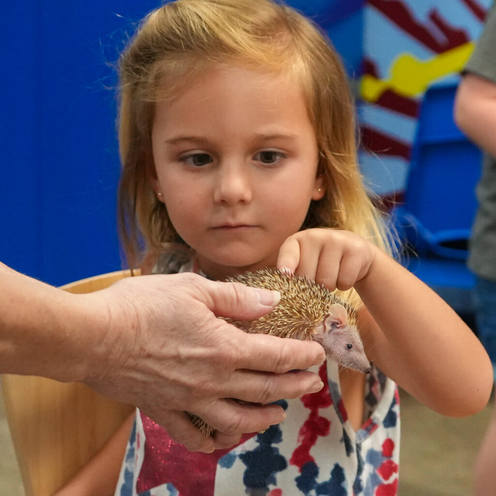
[[[120,229],[130,266],[147,250],[181,242],[149,181],[155,102],[174,98],[222,64],[294,77],[306,97],[326,194],[302,229],[353,231],[386,248],[386,230],[357,165],[355,110],[341,62],[319,28],[270,0],[177,0],[148,14],[120,60]]]

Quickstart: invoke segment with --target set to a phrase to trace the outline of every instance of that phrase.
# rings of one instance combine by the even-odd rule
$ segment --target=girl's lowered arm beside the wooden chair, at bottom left
[[[113,496],[133,421],[134,413],[54,496]]]

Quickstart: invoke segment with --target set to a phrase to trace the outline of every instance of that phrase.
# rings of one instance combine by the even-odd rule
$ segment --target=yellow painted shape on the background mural
[[[406,97],[416,97],[435,79],[459,72],[470,57],[474,45],[474,42],[465,43],[426,61],[411,54],[401,54],[391,66],[389,79],[377,79],[366,74],[362,78],[360,92],[364,100],[369,102],[375,102],[387,89]]]

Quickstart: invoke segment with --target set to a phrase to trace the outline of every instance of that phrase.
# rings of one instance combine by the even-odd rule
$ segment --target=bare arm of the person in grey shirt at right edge
[[[466,74],[456,93],[454,115],[458,127],[496,157],[496,84]]]

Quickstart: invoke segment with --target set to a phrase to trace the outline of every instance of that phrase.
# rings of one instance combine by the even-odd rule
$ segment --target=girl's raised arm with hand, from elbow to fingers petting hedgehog
[[[279,268],[327,288],[354,287],[362,339],[370,360],[419,401],[462,417],[487,404],[490,359],[477,337],[428,286],[364,238],[310,229],[286,240]]]

